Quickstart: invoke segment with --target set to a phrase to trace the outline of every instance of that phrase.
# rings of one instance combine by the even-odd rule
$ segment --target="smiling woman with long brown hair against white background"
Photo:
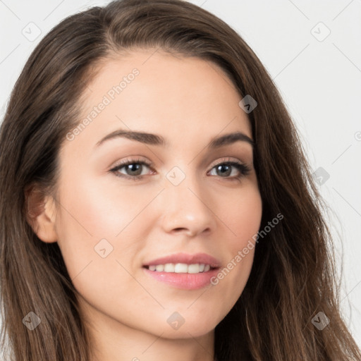
[[[13,90],[0,169],[13,360],[361,360],[286,107],[202,8],[63,20]]]

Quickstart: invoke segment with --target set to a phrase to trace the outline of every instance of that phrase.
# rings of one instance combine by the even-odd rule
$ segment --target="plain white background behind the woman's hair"
[[[66,16],[108,2],[0,0],[1,119],[39,40]],[[361,347],[361,0],[190,2],[226,21],[255,51],[298,126],[312,169],[329,173],[319,188],[331,209],[338,271],[343,266],[343,314]],[[30,27],[32,35],[41,31],[32,42],[23,35]]]

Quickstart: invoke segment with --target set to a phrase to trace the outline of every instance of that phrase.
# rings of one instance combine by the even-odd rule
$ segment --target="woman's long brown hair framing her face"
[[[216,326],[219,361],[361,360],[340,311],[334,249],[295,126],[271,77],[243,39],[211,13],[181,0],[123,0],[61,21],[32,52],[0,131],[0,255],[3,349],[13,360],[89,360],[89,340],[57,243],[27,223],[27,191],[56,197],[58,157],[79,122],[82,92],[109,56],[137,48],[197,56],[221,66],[248,114],[262,196],[263,229],[250,278]],[[41,323],[30,331],[24,317]],[[314,326],[319,312],[329,324]]]

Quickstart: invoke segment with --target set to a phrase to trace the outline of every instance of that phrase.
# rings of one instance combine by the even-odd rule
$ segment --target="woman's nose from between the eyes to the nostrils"
[[[164,228],[167,231],[185,228],[197,234],[213,228],[214,214],[207,205],[209,198],[192,167],[183,170],[174,166],[166,174],[165,188]]]

